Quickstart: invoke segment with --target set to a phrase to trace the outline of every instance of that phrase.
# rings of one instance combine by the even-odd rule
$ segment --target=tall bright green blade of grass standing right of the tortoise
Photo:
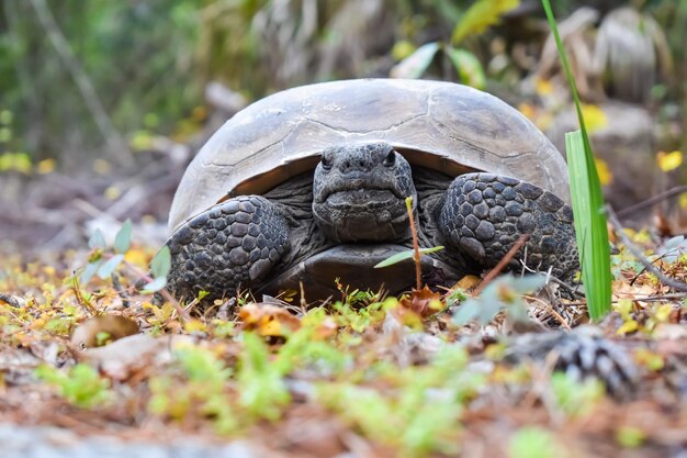
[[[589,315],[593,320],[598,321],[609,312],[611,294],[610,248],[604,210],[604,194],[594,163],[594,153],[592,152],[589,136],[585,126],[577,86],[575,85],[565,48],[559,35],[551,3],[549,0],[542,0],[542,4],[555,40],[565,77],[571,87],[579,121],[579,131],[565,135],[565,147],[570,168],[579,264],[582,266],[582,281],[585,286]]]

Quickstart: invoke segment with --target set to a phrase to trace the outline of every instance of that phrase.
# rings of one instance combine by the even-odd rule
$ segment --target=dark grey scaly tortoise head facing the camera
[[[313,215],[335,242],[406,238],[407,197],[415,208],[410,165],[383,142],[329,147],[315,168]]]

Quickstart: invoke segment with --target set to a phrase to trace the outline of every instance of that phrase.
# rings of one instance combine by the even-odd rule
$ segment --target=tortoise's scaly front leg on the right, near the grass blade
[[[449,187],[437,209],[441,242],[483,267],[494,267],[521,234],[529,234],[510,262],[568,280],[578,269],[573,212],[538,186],[491,174],[466,174]],[[525,255],[527,254],[527,258]]]

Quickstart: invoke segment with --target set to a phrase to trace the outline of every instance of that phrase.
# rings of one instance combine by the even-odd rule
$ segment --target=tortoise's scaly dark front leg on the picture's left
[[[169,288],[178,298],[199,291],[210,299],[259,284],[289,249],[289,226],[277,206],[260,196],[218,203],[187,221],[167,246]]]

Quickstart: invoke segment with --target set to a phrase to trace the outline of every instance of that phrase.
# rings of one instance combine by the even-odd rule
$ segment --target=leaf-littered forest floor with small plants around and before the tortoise
[[[125,245],[114,225],[114,246],[3,246],[10,457],[687,456],[687,302],[663,281],[685,284],[684,236],[627,232],[661,276],[616,241],[612,312],[571,332],[584,299],[511,276],[399,298],[340,286],[324,304],[160,304],[139,288],[159,247],[140,227]],[[94,260],[102,278],[80,281]]]

